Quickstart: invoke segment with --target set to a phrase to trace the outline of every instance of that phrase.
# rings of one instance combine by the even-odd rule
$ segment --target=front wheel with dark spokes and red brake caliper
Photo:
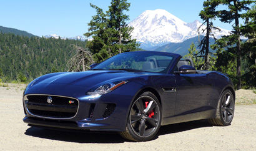
[[[162,114],[159,100],[151,92],[144,92],[133,102],[127,119],[125,139],[144,142],[154,138],[161,124]]]

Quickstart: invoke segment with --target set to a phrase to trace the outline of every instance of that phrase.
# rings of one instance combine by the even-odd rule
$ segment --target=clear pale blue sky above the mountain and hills
[[[0,26],[12,27],[30,32],[36,36],[58,34],[73,37],[87,32],[87,23],[96,15],[90,2],[104,11],[111,0],[3,0],[0,2]],[[130,21],[146,10],[165,9],[182,21],[202,20],[199,12],[204,0],[128,0],[131,3]],[[130,22],[128,21],[128,22]],[[215,26],[232,29],[231,24],[214,22]]]

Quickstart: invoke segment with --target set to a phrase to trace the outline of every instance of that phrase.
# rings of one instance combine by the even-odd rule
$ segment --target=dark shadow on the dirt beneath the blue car
[[[174,134],[184,132],[192,129],[199,129],[201,127],[210,127],[211,125],[202,120],[185,122],[180,124],[164,125],[160,127],[159,132],[153,140],[157,139],[160,135]],[[59,140],[64,142],[78,142],[78,143],[124,143],[130,142],[123,139],[121,135],[116,132],[67,132],[59,130],[47,130],[36,127],[30,127],[24,133],[32,137],[39,137],[42,139]]]

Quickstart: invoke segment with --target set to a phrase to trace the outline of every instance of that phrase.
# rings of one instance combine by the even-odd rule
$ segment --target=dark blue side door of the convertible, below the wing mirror
[[[209,110],[213,89],[209,74],[175,74],[176,103],[175,116],[191,115],[190,120],[200,119],[199,112]]]

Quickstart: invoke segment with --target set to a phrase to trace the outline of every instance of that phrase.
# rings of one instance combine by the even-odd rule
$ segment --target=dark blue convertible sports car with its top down
[[[230,125],[235,91],[225,74],[197,71],[179,54],[125,52],[86,72],[38,77],[24,90],[23,105],[23,121],[32,127],[116,131],[147,141],[160,125]]]

